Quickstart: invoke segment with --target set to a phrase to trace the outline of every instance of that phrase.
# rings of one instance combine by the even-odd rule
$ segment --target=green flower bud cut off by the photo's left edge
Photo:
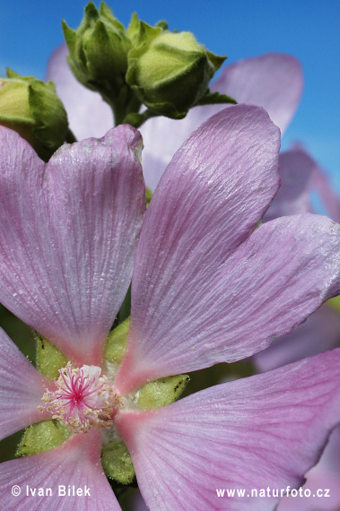
[[[45,161],[65,142],[68,131],[54,84],[11,70],[0,79],[0,125],[21,134]]]

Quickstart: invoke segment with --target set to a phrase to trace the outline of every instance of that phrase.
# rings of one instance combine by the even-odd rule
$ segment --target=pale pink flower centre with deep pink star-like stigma
[[[57,390],[42,396],[44,406],[52,413],[52,419],[62,420],[75,433],[86,432],[92,426],[109,428],[113,424],[112,413],[121,404],[118,394],[112,392],[107,377],[100,377],[97,366],[74,368],[68,362],[59,369],[60,377],[55,378]]]

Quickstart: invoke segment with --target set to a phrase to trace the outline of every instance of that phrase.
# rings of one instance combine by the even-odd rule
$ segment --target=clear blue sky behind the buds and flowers
[[[99,2],[95,2],[99,5]],[[81,0],[12,0],[0,8],[0,69],[44,77],[48,56],[63,41],[61,20],[76,28]],[[283,148],[303,143],[332,176],[340,193],[340,2],[338,0],[109,1],[127,24],[136,11],[151,24],[190,30],[229,63],[279,51],[297,56],[304,71],[301,106]]]

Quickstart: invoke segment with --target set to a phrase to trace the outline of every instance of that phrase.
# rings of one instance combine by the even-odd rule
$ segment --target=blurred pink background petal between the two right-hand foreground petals
[[[278,337],[272,346],[265,351],[259,351],[254,356],[254,361],[261,371],[268,371],[322,351],[332,350],[339,345],[340,315],[325,304],[292,333]]]

